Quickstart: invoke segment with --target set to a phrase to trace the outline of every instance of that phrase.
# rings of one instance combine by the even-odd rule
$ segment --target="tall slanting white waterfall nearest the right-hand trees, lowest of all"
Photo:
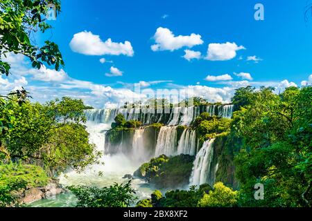
[[[202,148],[196,155],[193,163],[193,171],[189,181],[190,185],[200,185],[208,183],[213,186],[216,180],[216,168],[213,168],[212,160],[214,159],[214,139],[202,144]]]

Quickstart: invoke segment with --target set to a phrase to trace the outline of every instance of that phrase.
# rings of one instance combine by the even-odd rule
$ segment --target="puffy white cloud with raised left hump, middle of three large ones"
[[[175,35],[173,35],[173,32],[171,32],[171,30],[162,27],[157,28],[153,38],[155,39],[156,42],[156,44],[150,47],[153,51],[157,50],[173,51],[183,47],[192,48],[193,46],[197,46],[204,43],[200,35],[196,35],[193,33],[187,36],[179,35],[175,37]]]

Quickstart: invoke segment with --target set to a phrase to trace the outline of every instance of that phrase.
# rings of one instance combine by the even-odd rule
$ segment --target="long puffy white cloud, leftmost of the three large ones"
[[[74,52],[83,55],[134,55],[130,41],[115,43],[110,38],[102,41],[99,35],[87,31],[73,35],[69,46]]]

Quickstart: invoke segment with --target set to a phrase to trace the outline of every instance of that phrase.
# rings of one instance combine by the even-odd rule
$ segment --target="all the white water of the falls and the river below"
[[[114,117],[118,113],[123,114],[125,119],[143,119],[144,124],[151,124],[153,122],[159,122],[161,117],[156,117],[155,109],[146,108],[141,109],[132,108],[129,113],[129,109],[103,109],[103,110],[87,110],[85,111],[87,117],[87,131],[89,132],[89,142],[96,145],[97,151],[105,151],[105,131],[110,128],[110,124],[114,121]],[[208,106],[207,111],[209,113],[216,113],[216,106]],[[233,106],[223,106],[220,109],[223,117],[232,117]],[[158,155],[177,155],[177,154],[190,154],[196,155],[194,161],[193,171],[190,178],[190,184],[203,184],[208,182],[213,184],[215,180],[215,169],[211,168],[211,162],[213,159],[212,142],[205,142],[198,151],[198,140],[196,140],[195,131],[190,129],[184,130],[182,137],[177,142],[177,124],[189,125],[200,114],[198,107],[173,108],[169,118],[169,125],[162,126],[157,137],[157,145],[155,148],[155,156]],[[62,174],[60,176],[60,183],[64,186],[68,185],[88,185],[88,186],[110,186],[117,183],[127,182],[122,177],[125,174],[132,174],[140,165],[141,162],[146,162],[149,159],[144,155],[144,129],[137,130],[132,144],[132,152],[135,156],[125,156],[122,153],[117,155],[103,155],[100,162],[103,164],[95,164],[89,166],[83,173],[76,173],[70,171],[69,173]],[[196,144],[197,143],[197,144]],[[103,173],[100,176],[99,173]],[[150,197],[151,189],[141,180],[133,180],[132,187],[137,189],[137,195],[139,199]],[[70,193],[66,196],[58,195],[55,198],[46,200],[39,200],[33,204],[33,206],[74,206],[75,198]]]

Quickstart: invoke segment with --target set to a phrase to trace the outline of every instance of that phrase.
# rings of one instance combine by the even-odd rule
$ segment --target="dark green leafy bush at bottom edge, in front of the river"
[[[69,186],[68,189],[78,198],[77,207],[128,207],[137,199],[131,180],[103,188]]]

